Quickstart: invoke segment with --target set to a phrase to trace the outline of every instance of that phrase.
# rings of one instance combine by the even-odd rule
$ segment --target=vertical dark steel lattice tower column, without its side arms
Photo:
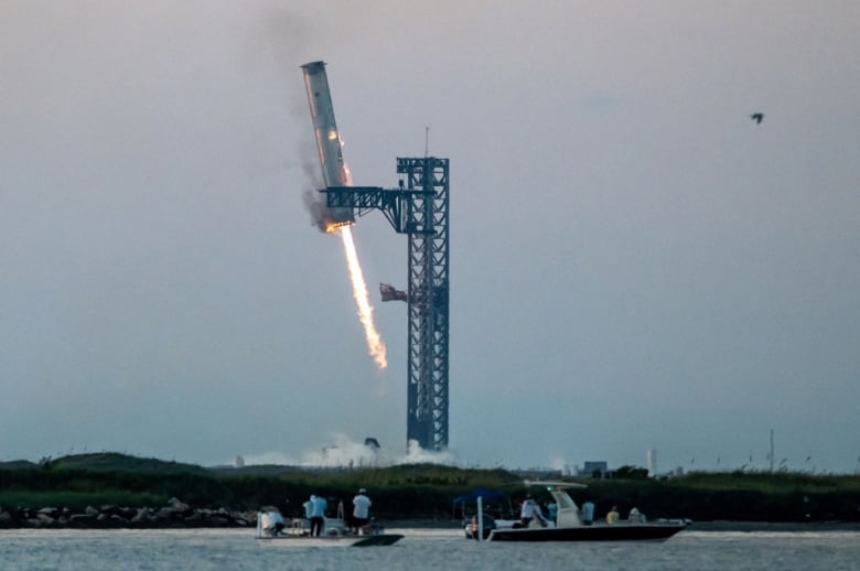
[[[397,159],[409,235],[409,362],[406,439],[448,446],[448,159]],[[408,191],[419,191],[409,193]]]

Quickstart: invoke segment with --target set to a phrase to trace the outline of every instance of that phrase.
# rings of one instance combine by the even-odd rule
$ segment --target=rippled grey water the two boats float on
[[[456,529],[388,529],[381,548],[260,546],[252,530],[4,530],[2,570],[860,569],[860,532],[684,531],[664,543],[477,543]]]

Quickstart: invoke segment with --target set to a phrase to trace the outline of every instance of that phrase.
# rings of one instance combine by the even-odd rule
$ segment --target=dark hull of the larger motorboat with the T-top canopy
[[[490,541],[665,541],[686,524],[593,525],[568,528],[494,529]]]

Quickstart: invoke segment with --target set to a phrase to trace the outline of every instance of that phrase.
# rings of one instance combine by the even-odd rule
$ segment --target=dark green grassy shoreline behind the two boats
[[[589,487],[573,493],[574,499],[594,502],[599,517],[617,505],[622,514],[635,506],[649,518],[711,521],[711,529],[723,525],[716,524],[720,521],[732,522],[732,529],[740,522],[860,522],[857,475],[730,472],[691,473],[665,481],[577,481]],[[453,498],[476,488],[505,492],[510,504],[527,492],[539,503],[549,500],[545,491],[526,489],[522,474],[436,464],[353,470],[203,467],[116,453],[78,454],[37,464],[0,463],[0,511],[44,506],[143,508],[179,498],[197,509],[252,513],[262,505],[275,505],[286,516],[295,517],[310,494],[325,495],[334,509],[337,500],[348,504],[359,487],[370,491],[374,513],[385,521],[455,521],[461,511],[453,509]]]

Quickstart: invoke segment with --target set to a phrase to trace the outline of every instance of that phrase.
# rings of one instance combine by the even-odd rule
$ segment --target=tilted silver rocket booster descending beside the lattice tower
[[[343,160],[341,136],[334,122],[334,106],[329,90],[329,77],[324,62],[311,62],[302,65],[304,87],[308,89],[308,103],[311,105],[311,119],[316,136],[316,150],[320,153],[325,186],[352,186],[350,169]],[[334,223],[354,222],[352,208],[331,208]]]

